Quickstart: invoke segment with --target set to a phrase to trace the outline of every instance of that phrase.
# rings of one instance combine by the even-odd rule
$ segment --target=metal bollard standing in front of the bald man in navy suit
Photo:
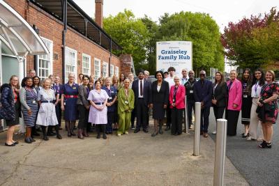
[[[195,139],[194,139],[194,155],[199,156],[199,133],[200,133],[200,117],[201,103],[195,102]]]

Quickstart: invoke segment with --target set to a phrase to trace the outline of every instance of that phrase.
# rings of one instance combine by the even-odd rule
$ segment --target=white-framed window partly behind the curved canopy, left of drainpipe
[[[41,38],[41,39],[43,40],[45,46],[50,52],[50,54],[38,55],[36,71],[38,72],[38,77],[40,77],[40,79],[43,80],[52,74],[53,42],[52,40],[48,40],[46,38]]]

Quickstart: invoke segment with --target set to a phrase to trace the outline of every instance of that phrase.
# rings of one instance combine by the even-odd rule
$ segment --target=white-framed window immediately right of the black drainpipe
[[[77,51],[66,47],[65,56],[65,82],[68,82],[68,75],[72,72],[77,78]]]

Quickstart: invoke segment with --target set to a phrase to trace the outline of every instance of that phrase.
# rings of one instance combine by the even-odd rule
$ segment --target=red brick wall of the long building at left
[[[17,13],[20,13],[30,25],[35,24],[40,33],[40,36],[52,40],[53,54],[58,54],[57,59],[53,59],[53,74],[62,75],[62,31],[63,23],[56,20],[54,17],[41,10],[33,3],[26,0],[5,0]],[[91,74],[94,73],[94,58],[101,61],[101,72],[103,70],[103,61],[109,62],[110,52],[103,47],[100,47],[93,41],[82,36],[82,34],[68,27],[66,33],[66,47],[77,51],[77,75],[82,72],[82,53],[91,56]],[[121,62],[117,56],[112,55],[111,64],[119,67],[121,72]],[[34,68],[33,56],[27,58],[27,72]]]

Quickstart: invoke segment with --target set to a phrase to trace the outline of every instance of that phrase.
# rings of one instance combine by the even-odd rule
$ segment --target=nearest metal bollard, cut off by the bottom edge
[[[227,141],[227,120],[217,120],[216,147],[215,147],[215,164],[214,164],[214,186],[223,185],[224,167]]]

